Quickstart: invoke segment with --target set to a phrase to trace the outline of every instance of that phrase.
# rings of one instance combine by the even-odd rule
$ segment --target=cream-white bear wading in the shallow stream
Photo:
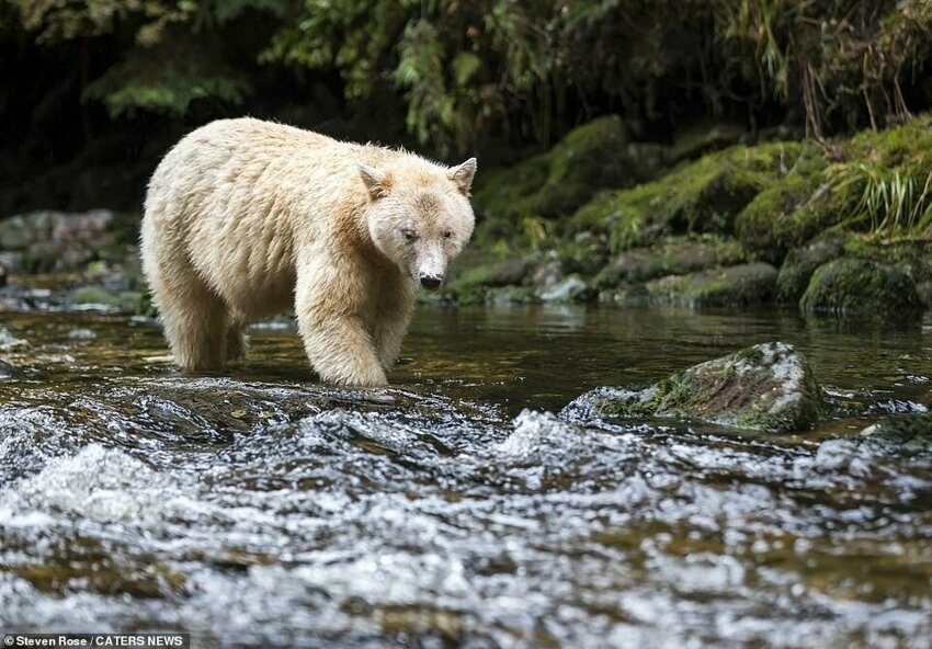
[[[187,134],[149,180],[140,235],[174,362],[220,371],[250,322],[293,307],[321,380],[386,385],[418,288],[473,235],[476,168],[251,117]]]

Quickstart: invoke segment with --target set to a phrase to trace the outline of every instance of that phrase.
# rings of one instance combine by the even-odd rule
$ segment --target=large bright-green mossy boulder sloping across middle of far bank
[[[602,194],[572,216],[577,230],[601,229],[617,253],[675,232],[731,232],[735,218],[785,174],[822,164],[812,145],[771,143],[709,153],[666,177]]]

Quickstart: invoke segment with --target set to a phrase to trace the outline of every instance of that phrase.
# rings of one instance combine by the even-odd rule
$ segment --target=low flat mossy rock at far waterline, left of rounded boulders
[[[763,262],[687,275],[670,275],[647,283],[651,301],[693,308],[736,307],[773,298],[777,271]]]

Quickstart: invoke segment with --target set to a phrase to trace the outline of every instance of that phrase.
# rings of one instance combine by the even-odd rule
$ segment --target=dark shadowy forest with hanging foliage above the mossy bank
[[[0,0],[0,217],[138,210],[250,114],[486,168],[621,114],[826,140],[932,105],[925,0]]]

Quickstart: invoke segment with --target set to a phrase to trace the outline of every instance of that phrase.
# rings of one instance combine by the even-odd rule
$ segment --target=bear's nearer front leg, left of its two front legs
[[[388,383],[372,335],[345,287],[298,282],[298,331],[314,369],[327,383],[384,386]]]

